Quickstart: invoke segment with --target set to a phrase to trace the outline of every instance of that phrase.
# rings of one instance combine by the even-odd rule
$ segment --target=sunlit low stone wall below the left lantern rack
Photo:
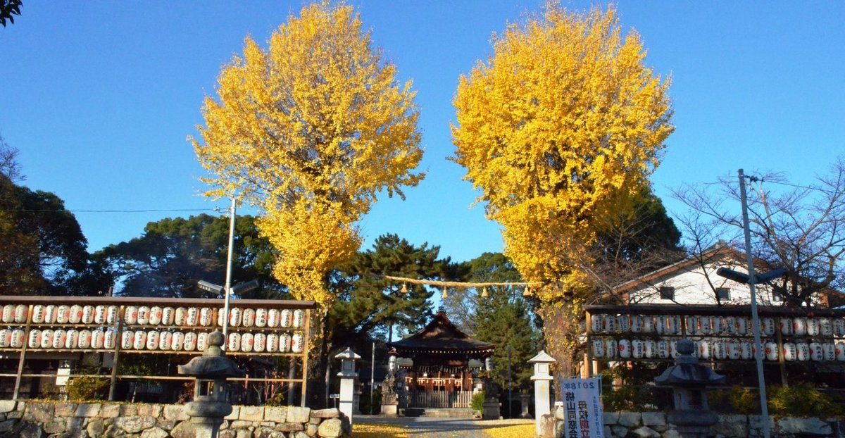
[[[0,438],[193,438],[183,405],[0,401]],[[350,435],[337,409],[235,406],[220,438]]]

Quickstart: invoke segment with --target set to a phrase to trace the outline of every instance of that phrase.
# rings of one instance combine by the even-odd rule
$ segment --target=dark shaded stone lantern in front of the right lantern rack
[[[707,386],[723,384],[725,376],[698,363],[693,356],[695,342],[684,338],[678,342],[677,349],[679,356],[675,364],[654,381],[659,386],[672,387],[674,410],[668,413],[668,422],[675,424],[684,438],[703,438],[719,420],[707,407]]]

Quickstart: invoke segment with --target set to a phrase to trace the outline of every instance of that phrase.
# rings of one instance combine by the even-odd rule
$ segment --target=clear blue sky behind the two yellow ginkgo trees
[[[25,184],[58,194],[91,251],[134,238],[147,222],[211,209],[185,140],[202,123],[221,64],[250,34],[266,41],[301,1],[52,2],[25,0],[0,28],[0,134],[20,150]],[[428,178],[407,200],[381,200],[364,218],[367,241],[398,233],[469,260],[502,247],[499,228],[472,209],[476,195],[449,123],[459,74],[490,52],[489,37],[541,2],[353,2],[402,79],[413,79]],[[588,2],[564,2],[588,8]],[[628,2],[625,29],[646,63],[672,74],[675,133],[652,178],[668,200],[680,183],[707,183],[739,167],[808,183],[845,155],[843,2]],[[739,205],[737,206],[739,208]]]

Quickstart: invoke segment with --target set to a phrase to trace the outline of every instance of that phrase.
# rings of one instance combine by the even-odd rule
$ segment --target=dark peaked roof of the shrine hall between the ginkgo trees
[[[472,339],[452,324],[444,312],[438,312],[433,320],[401,341],[388,343],[389,347],[401,351],[492,351],[496,348],[491,343]]]

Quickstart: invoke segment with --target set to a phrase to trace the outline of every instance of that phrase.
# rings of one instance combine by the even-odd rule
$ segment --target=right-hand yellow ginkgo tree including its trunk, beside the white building
[[[502,225],[505,254],[526,281],[545,285],[535,293],[549,318],[575,318],[591,290],[563,251],[586,248],[602,218],[633,205],[673,132],[669,81],[645,56],[613,7],[572,13],[548,3],[493,36],[493,54],[461,76],[454,160]]]

